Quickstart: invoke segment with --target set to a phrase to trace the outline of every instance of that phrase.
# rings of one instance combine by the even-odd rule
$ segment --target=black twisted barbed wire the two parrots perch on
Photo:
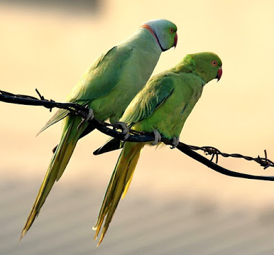
[[[37,89],[36,89],[36,93],[38,93],[38,96],[40,97],[40,99],[36,97],[28,96],[28,95],[14,95],[12,93],[8,93],[3,90],[0,90],[0,101],[4,101],[6,103],[11,103],[11,104],[23,104],[28,106],[44,106],[46,108],[49,108],[50,110],[52,110],[52,108],[62,108],[62,109],[69,110],[71,114],[76,114],[80,117],[86,117],[86,114],[88,114],[88,108],[86,108],[85,106],[75,104],[75,103],[59,103],[53,100],[47,100],[42,95],[40,95]],[[108,136],[112,136],[114,138],[119,138],[120,140],[123,140],[124,135],[121,134],[121,132],[117,131],[116,127],[114,127],[112,124],[105,123],[104,121],[99,121],[95,118],[89,121],[100,132],[103,132],[104,134],[107,134]],[[127,141],[129,142],[140,143],[140,142],[149,142],[154,140],[153,134],[136,132],[134,130],[130,130],[130,133],[131,134],[129,135],[129,138],[127,138]],[[165,143],[166,145],[171,145],[172,143],[172,141],[166,138],[162,138],[162,142]],[[243,158],[245,160],[253,160],[257,162],[258,164],[260,164],[260,166],[264,167],[264,169],[268,167],[274,167],[274,163],[267,158],[266,150],[264,150],[264,158],[261,158],[260,156],[258,156],[257,158],[252,158],[250,156],[242,156],[241,154],[223,153],[219,151],[219,149],[216,149],[210,146],[198,147],[193,145],[186,145],[185,143],[181,143],[181,142],[179,143],[179,145],[177,145],[177,149],[179,149],[179,151],[182,151],[184,154],[190,156],[191,158],[201,162],[203,165],[210,167],[214,171],[223,173],[225,175],[238,177],[238,178],[253,179],[253,180],[274,181],[274,176],[249,175],[246,173],[238,173],[235,171],[230,171],[228,169],[225,169],[217,165],[218,157],[219,155],[221,155],[225,158],[233,157],[233,158]],[[212,158],[208,160],[208,158],[205,158],[201,156],[200,154],[197,154],[195,150],[201,150],[206,155],[212,155]],[[216,156],[216,163],[212,162],[215,156]]]

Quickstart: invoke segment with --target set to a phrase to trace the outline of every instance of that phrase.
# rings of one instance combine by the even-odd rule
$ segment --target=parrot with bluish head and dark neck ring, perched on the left
[[[132,36],[103,53],[71,90],[66,101],[91,108],[86,119],[94,116],[101,121],[119,121],[129,102],[149,80],[162,51],[176,45],[177,27],[171,21],[158,19],[144,23]],[[53,149],[45,179],[20,239],[34,223],[54,182],[60,179],[79,138],[95,129],[81,117],[60,109],[40,132],[61,119],[60,143]]]

